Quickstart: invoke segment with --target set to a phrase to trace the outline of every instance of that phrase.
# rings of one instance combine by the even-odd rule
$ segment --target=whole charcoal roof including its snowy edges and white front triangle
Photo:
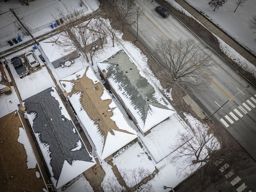
[[[96,164],[55,88],[23,102],[56,189]]]

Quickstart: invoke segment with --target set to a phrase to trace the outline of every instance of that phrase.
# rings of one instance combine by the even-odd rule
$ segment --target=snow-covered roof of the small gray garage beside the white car
[[[56,46],[55,41],[61,40],[62,34],[57,34],[55,36],[52,36],[51,38],[48,38],[46,40],[42,40],[39,42],[40,46],[44,50],[44,53],[46,54],[47,58],[50,62],[54,62],[64,56],[67,56],[68,54],[76,51],[76,49],[70,48],[69,51],[63,51],[58,46]]]

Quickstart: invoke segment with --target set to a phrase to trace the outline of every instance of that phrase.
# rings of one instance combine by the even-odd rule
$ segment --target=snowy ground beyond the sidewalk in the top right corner
[[[255,14],[255,0],[247,0],[243,7],[239,6],[237,8],[236,12],[234,12],[236,9],[235,0],[227,1],[222,7],[215,11],[208,6],[209,0],[186,1],[220,26],[220,28],[232,38],[248,47],[256,54],[256,42],[254,42],[256,34],[253,34],[253,31],[248,27],[249,19]]]

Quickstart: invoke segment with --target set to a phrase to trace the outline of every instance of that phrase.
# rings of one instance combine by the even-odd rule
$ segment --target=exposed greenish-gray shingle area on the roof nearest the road
[[[134,109],[139,111],[143,122],[146,121],[148,111],[151,111],[150,105],[164,110],[172,110],[167,107],[166,100],[156,94],[148,80],[140,75],[136,65],[123,50],[101,63],[109,64],[106,69],[107,78],[113,79],[114,83],[118,84],[118,89],[122,90],[122,95],[129,98]],[[100,66],[100,63],[98,65]]]

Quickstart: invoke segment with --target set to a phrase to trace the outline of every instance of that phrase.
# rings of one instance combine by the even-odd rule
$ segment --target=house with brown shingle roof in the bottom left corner
[[[0,122],[0,191],[48,191],[18,111]]]

